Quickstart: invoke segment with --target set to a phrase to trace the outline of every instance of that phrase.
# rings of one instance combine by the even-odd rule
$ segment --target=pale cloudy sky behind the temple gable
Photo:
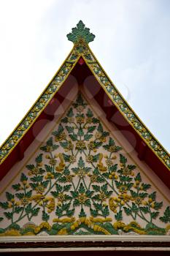
[[[169,0],[0,0],[0,145],[66,59],[79,20],[109,78],[170,151]]]

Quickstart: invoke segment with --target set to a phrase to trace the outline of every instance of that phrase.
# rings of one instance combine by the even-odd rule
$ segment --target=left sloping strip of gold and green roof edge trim
[[[23,136],[26,135],[26,132],[28,132],[28,129],[32,127],[36,119],[39,117],[42,111],[47,107],[50,100],[53,99],[54,95],[61,88],[62,84],[64,83],[66,78],[69,76],[75,64],[77,64],[79,56],[77,56],[77,59],[74,59],[72,58],[72,55],[74,55],[74,48],[72,48],[71,52],[69,53],[69,56],[67,56],[65,61],[63,61],[63,64],[61,64],[61,67],[55,73],[52,80],[50,80],[50,83],[48,83],[45,90],[42,92],[39,98],[36,99],[36,102],[34,102],[34,105],[32,105],[32,107],[28,110],[26,115],[20,121],[18,126],[15,127],[15,129],[9,135],[7,140],[5,140],[4,143],[1,144],[0,165],[9,156],[9,154],[15,148],[15,146],[18,145],[18,143],[23,138]]]

